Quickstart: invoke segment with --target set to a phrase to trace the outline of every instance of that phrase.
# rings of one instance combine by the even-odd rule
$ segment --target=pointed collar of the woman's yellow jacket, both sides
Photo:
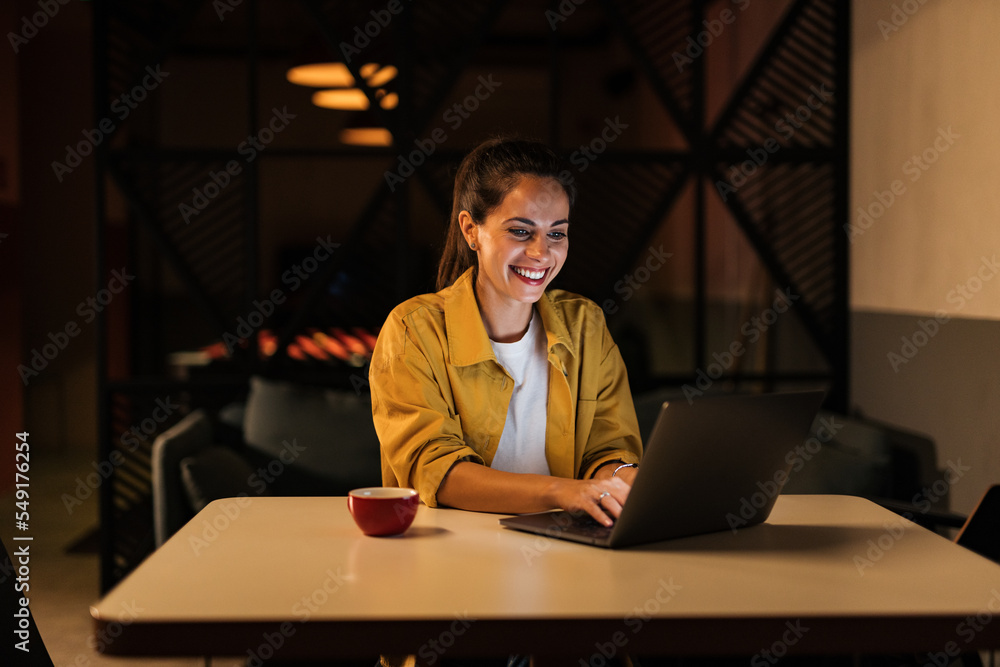
[[[455,366],[471,366],[484,361],[495,360],[490,337],[479,314],[476,301],[475,268],[468,269],[447,289],[441,291],[444,299],[444,320],[448,332],[448,357]],[[562,345],[576,356],[576,348],[569,336],[569,329],[559,309],[553,304],[553,297],[545,292],[536,304],[542,316],[542,325],[548,339],[549,353]]]

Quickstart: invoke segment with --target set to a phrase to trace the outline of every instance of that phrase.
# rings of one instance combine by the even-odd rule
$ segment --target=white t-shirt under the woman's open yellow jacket
[[[515,343],[497,343],[493,353],[514,378],[500,443],[490,464],[507,472],[549,474],[545,422],[549,398],[549,360],[545,327],[535,310],[528,331]]]

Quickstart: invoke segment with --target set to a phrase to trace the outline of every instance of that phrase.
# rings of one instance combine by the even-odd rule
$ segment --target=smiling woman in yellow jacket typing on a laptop
[[[440,291],[397,306],[372,358],[386,486],[430,507],[621,512],[642,450],[621,355],[596,304],[546,291],[569,250],[566,174],[510,139],[459,166]]]

